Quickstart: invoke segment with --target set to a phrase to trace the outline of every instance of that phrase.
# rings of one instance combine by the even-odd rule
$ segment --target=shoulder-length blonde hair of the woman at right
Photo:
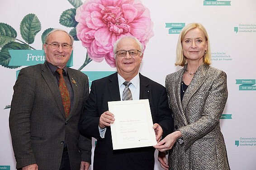
[[[209,42],[207,31],[205,30],[204,26],[200,23],[189,23],[180,32],[180,36],[179,36],[177,48],[176,48],[175,66],[185,66],[188,63],[187,58],[183,55],[181,42],[183,41],[187,32],[194,28],[199,28],[204,32],[204,36],[205,36],[205,39],[207,40],[208,48],[206,50],[206,54],[204,54],[203,62],[208,65],[211,64],[211,50],[210,50],[210,42]]]

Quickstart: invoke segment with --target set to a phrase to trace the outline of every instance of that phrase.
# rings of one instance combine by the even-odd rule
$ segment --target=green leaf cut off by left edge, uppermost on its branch
[[[11,41],[15,41],[16,37],[17,32],[13,27],[6,23],[0,22],[0,48]]]

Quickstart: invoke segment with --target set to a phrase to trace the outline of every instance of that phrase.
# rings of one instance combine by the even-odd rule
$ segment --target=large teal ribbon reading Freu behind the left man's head
[[[33,66],[45,61],[44,50],[9,49],[9,54],[11,56],[9,66]],[[73,66],[73,51],[66,66]]]

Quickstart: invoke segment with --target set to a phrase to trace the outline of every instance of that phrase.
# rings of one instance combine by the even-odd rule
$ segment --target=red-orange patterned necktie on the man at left
[[[57,73],[59,73],[60,75],[59,89],[62,95],[62,103],[64,107],[65,116],[67,118],[70,112],[70,97],[69,97],[68,89],[66,87],[66,83],[64,81],[62,72],[63,72],[62,69],[60,68],[57,69]]]

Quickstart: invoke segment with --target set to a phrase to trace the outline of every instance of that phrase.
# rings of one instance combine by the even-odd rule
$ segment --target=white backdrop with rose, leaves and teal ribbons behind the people
[[[104,3],[114,0],[89,3],[98,1],[103,2],[105,10],[85,8],[89,0],[1,0],[0,170],[15,170],[16,166],[9,132],[14,83],[21,68],[45,61],[43,43],[49,31],[61,28],[74,37],[68,67],[87,74],[90,85],[116,72],[115,40],[124,35],[136,36],[145,47],[140,72],[165,85],[166,75],[182,68],[174,66],[176,44],[181,29],[190,22],[204,25],[209,34],[211,66],[228,76],[228,102],[220,124],[230,168],[255,170],[256,1],[127,0],[132,12],[123,9],[122,4],[113,6],[123,11],[120,18],[115,18],[118,13],[110,15]],[[92,145],[93,153],[95,139]],[[155,158],[155,170],[162,170],[157,151]]]

